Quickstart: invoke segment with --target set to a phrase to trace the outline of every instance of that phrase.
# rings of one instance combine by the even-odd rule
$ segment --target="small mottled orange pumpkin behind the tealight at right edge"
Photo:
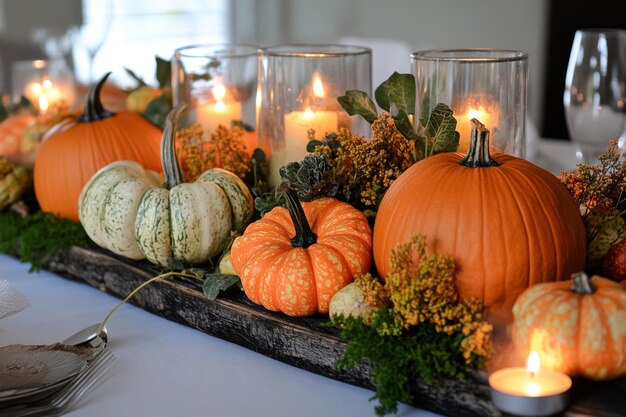
[[[513,307],[513,340],[542,367],[591,379],[626,375],[626,288],[584,272],[537,284]]]

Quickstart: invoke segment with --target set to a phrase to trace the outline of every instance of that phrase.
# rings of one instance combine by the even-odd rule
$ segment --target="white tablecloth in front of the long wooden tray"
[[[571,146],[540,141],[533,159],[558,173]],[[0,255],[0,278],[31,306],[0,320],[0,345],[49,344],[100,322],[119,301]],[[70,416],[373,416],[373,392],[321,377],[149,314],[130,304],[108,324],[118,361]],[[0,413],[1,414],[1,413]],[[400,405],[400,416],[434,414]]]

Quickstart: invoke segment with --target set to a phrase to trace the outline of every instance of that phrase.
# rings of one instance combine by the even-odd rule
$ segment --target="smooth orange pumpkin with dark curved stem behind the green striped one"
[[[100,89],[109,74],[92,88],[77,121],[62,123],[44,138],[35,161],[35,194],[44,211],[78,221],[81,189],[111,162],[133,160],[161,171],[161,130],[135,113],[102,107]]]

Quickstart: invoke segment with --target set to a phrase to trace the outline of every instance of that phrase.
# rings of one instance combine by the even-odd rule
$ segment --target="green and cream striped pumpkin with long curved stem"
[[[155,172],[132,161],[114,162],[98,171],[79,198],[79,217],[99,246],[131,259],[171,266],[197,264],[218,255],[231,231],[243,232],[254,214],[248,187],[220,168],[184,183],[176,159],[176,119],[168,114],[161,159],[165,184]]]

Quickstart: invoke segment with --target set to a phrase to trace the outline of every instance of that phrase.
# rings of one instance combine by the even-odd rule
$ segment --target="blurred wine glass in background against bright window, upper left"
[[[94,60],[113,21],[112,0],[83,0],[83,24],[74,29],[75,44],[82,46],[88,59],[88,83],[96,79]]]

